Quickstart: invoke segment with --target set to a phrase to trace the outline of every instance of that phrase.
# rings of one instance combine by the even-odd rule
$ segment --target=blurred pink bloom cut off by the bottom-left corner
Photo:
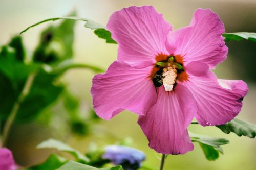
[[[0,148],[0,170],[15,170],[12,152],[7,148]]]

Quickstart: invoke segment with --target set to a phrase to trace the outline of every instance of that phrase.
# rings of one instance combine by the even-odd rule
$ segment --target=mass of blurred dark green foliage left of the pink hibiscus
[[[72,12],[75,16],[76,12]],[[38,45],[32,55],[27,55],[21,36],[14,36],[0,51],[0,122],[5,122],[22,91],[29,75],[36,73],[32,87],[19,107],[15,122],[27,122],[64,96],[64,104],[70,115],[70,129],[86,135],[88,125],[79,116],[79,101],[68,92],[60,77],[69,69],[86,68],[95,72],[103,70],[89,64],[72,62],[75,20],[67,19],[59,25],[49,26],[42,31]],[[29,53],[28,53],[29,54]],[[61,95],[62,94],[62,95]],[[45,113],[46,114],[46,113]],[[51,115],[49,115],[50,119]],[[91,116],[95,119],[94,115]],[[90,117],[89,117],[90,118]]]

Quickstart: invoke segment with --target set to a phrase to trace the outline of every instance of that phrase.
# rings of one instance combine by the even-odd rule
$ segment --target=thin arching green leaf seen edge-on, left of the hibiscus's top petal
[[[87,19],[87,18],[81,18],[81,17],[76,17],[76,16],[66,16],[66,17],[56,17],[56,18],[49,18],[49,19],[45,19],[42,20],[40,22],[35,23],[32,26],[29,26],[28,28],[26,28],[25,30],[23,30],[22,32],[20,32],[20,34],[25,33],[26,31],[28,31],[30,28],[35,27],[37,25],[40,25],[41,23],[44,22],[48,22],[48,21],[56,21],[56,20],[60,20],[60,19],[69,19],[69,20],[80,20],[80,21],[85,21],[87,22],[86,25],[84,25],[84,27],[90,28],[90,29],[104,29],[105,27],[102,26],[100,23],[97,23],[91,19]]]

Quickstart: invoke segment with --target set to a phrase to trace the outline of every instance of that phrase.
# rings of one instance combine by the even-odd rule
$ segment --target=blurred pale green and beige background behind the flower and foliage
[[[37,21],[65,16],[73,9],[77,10],[80,17],[90,18],[106,25],[113,12],[133,5],[153,5],[158,12],[163,13],[167,21],[172,23],[174,29],[187,26],[197,8],[210,8],[219,14],[224,22],[226,32],[256,32],[255,0],[0,0],[0,44],[9,42],[11,36]],[[38,43],[40,31],[49,24],[45,23],[23,34],[28,53],[32,52]],[[83,22],[76,23],[73,45],[74,60],[78,63],[94,64],[103,69],[108,68],[117,57],[118,46],[106,44],[104,40],[97,38],[92,30],[84,28],[83,25]],[[219,78],[242,79],[248,83],[249,93],[244,99],[244,106],[238,118],[256,124],[256,43],[246,40],[232,41],[228,42],[227,46],[229,47],[228,58],[217,66],[215,73]],[[62,78],[62,81],[68,83],[70,91],[82,101],[81,109],[84,114],[91,107],[90,88],[93,76],[94,73],[90,70],[76,69],[67,72]],[[145,163],[158,167],[159,154],[148,148],[148,141],[136,123],[137,115],[124,111],[108,122],[100,120],[100,126],[94,129],[93,135],[79,137],[66,131],[65,111],[60,105],[61,103],[55,102],[50,106],[51,114],[63,112],[52,120],[51,126],[46,126],[41,122],[14,125],[8,146],[13,151],[17,163],[31,165],[44,161],[51,151],[37,150],[35,147],[49,137],[64,140],[82,152],[87,151],[92,141],[99,145],[112,144],[116,140],[131,137],[134,147],[146,153]],[[256,169],[256,139],[238,137],[234,134],[227,135],[216,127],[203,128],[199,125],[190,125],[189,130],[199,134],[227,138],[230,140],[230,144],[223,146],[224,155],[220,155],[218,160],[207,161],[199,145],[195,143],[193,152],[186,155],[168,156],[165,169]]]

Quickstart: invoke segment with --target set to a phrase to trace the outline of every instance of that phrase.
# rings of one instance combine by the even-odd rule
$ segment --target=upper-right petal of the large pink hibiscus
[[[166,47],[170,54],[183,56],[184,64],[201,61],[210,68],[226,59],[228,48],[219,16],[210,9],[197,9],[189,27],[170,31]]]

